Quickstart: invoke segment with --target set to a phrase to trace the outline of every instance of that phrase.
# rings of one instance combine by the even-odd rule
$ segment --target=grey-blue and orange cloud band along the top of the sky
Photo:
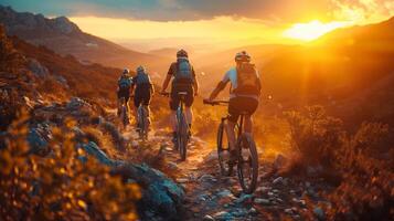
[[[392,15],[392,0],[0,0],[17,10],[45,15],[104,17],[129,20],[192,21],[216,17],[308,22]]]

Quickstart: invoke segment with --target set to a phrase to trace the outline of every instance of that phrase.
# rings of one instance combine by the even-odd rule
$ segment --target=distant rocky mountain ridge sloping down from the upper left
[[[137,66],[159,57],[128,50],[110,41],[83,32],[65,17],[47,19],[42,14],[15,12],[0,6],[0,23],[8,35],[34,45],[43,45],[61,55],[71,54],[83,63],[100,63],[108,66]]]

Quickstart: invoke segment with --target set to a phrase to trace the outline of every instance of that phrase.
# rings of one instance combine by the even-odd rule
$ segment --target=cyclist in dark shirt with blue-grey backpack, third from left
[[[180,50],[177,52],[177,62],[173,62],[168,71],[167,77],[162,85],[161,93],[166,93],[166,90],[173,77],[170,93],[170,108],[171,108],[171,125],[173,129],[173,140],[177,140],[177,108],[180,103],[179,92],[187,92],[184,105],[185,105],[185,118],[191,128],[193,112],[192,105],[194,96],[199,93],[199,83],[195,77],[194,69],[190,64],[188,52]]]

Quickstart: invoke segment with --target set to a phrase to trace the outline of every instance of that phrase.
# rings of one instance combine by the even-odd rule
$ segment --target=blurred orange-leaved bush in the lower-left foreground
[[[2,220],[136,220],[137,185],[75,148],[71,127],[53,128],[49,155],[29,154],[25,118],[9,127],[0,150]],[[68,126],[72,126],[68,124]]]

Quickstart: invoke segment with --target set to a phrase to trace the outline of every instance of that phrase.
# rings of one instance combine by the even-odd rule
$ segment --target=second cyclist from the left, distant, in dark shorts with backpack
[[[150,125],[150,99],[155,94],[153,84],[149,77],[147,70],[143,66],[138,66],[136,70],[137,75],[132,78],[131,93],[134,92],[134,106],[136,119],[138,119],[138,107],[142,104],[147,110],[148,125]]]

